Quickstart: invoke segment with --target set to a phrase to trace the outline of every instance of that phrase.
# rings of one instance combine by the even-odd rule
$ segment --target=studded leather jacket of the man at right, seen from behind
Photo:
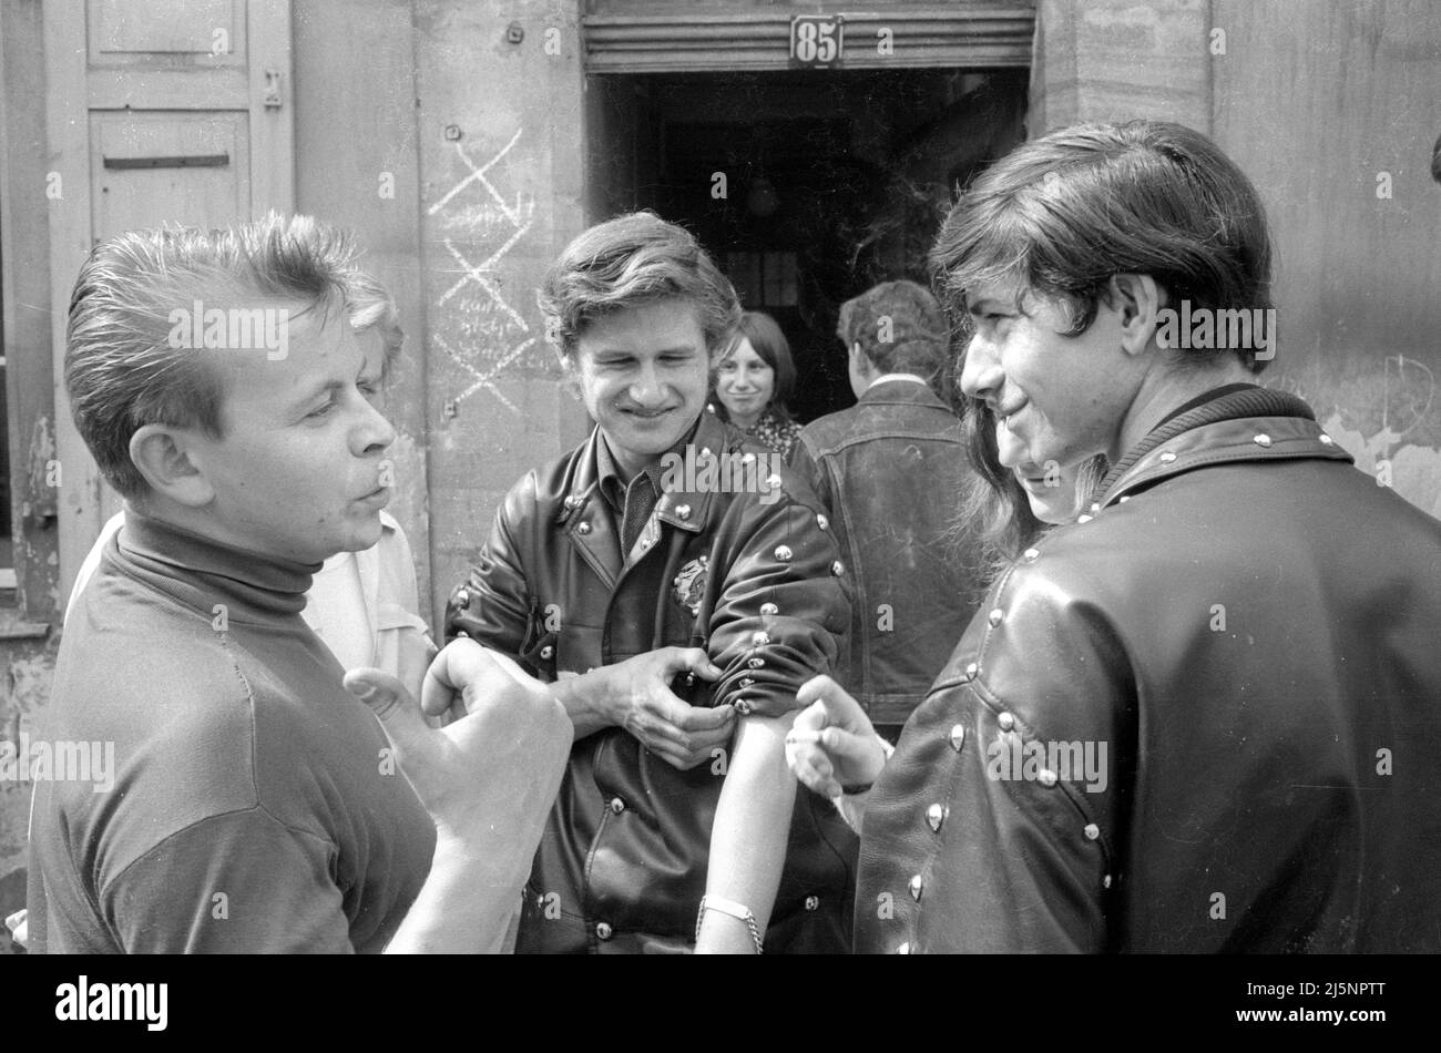
[[[1441,949],[1441,523],[1264,389],[1108,480],[906,725],[857,946]]]

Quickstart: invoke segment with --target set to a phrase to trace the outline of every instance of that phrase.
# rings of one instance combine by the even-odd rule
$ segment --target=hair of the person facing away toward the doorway
[[[915,373],[938,380],[950,363],[945,313],[929,290],[914,281],[886,281],[840,305],[836,336],[860,344],[880,373]]]

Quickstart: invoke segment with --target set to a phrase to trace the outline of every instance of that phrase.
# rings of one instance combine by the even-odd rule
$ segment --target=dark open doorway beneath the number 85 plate
[[[595,219],[654,209],[692,229],[746,308],[781,324],[801,421],[855,402],[840,304],[925,284],[954,199],[1025,138],[1027,72],[902,69],[591,81]]]

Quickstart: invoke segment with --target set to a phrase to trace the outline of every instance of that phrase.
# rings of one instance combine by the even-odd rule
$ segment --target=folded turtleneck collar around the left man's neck
[[[151,516],[125,511],[125,526],[107,545],[120,568],[186,606],[212,618],[271,622],[298,615],[321,563],[297,563],[212,540]]]

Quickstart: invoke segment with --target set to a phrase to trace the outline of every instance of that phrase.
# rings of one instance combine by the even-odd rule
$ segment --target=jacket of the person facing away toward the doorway
[[[839,681],[873,723],[904,725],[978,602],[951,537],[970,472],[961,422],[925,385],[888,380],[806,425],[793,458],[856,569]]]

